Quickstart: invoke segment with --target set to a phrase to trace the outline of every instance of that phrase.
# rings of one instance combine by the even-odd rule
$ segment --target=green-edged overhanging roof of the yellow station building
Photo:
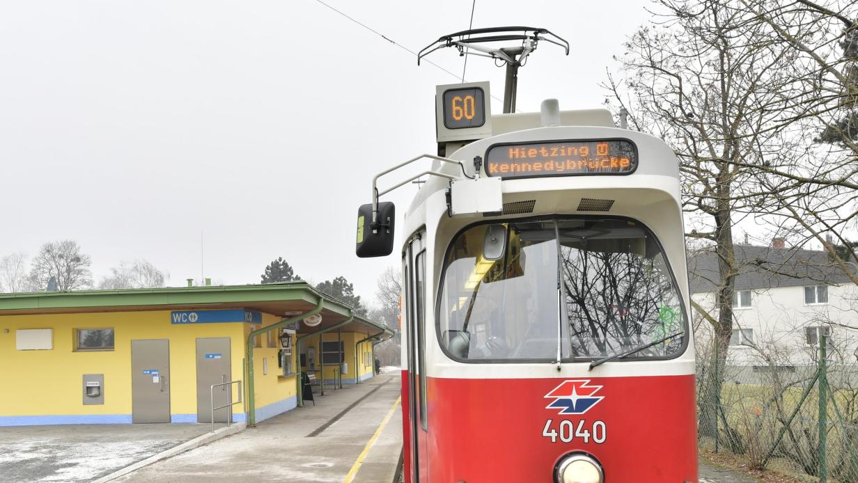
[[[319,292],[305,281],[263,285],[163,287],[69,292],[0,293],[0,317],[122,311],[187,311],[240,309],[278,317],[288,312],[306,312],[324,300],[322,323],[310,332],[344,322],[352,313],[341,300]],[[290,314],[292,315],[292,314]],[[299,324],[299,333],[305,332]],[[343,332],[393,335],[383,323],[355,315]]]

